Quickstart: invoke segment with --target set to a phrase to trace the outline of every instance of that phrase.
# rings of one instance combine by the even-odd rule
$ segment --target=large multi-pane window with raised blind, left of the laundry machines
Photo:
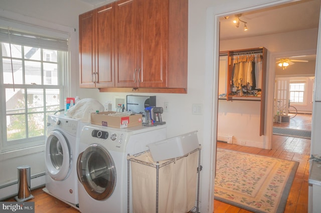
[[[1,30],[2,149],[44,144],[48,114],[64,105],[68,47],[52,45],[54,38],[26,36],[20,32],[8,35]],[[44,44],[30,42],[33,38],[42,39]],[[65,44],[67,46],[67,41]]]

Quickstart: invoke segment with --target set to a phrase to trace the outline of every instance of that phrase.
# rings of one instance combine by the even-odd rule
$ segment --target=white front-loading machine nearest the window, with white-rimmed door
[[[63,115],[48,115],[47,121],[44,191],[76,207],[79,137],[86,124]]]

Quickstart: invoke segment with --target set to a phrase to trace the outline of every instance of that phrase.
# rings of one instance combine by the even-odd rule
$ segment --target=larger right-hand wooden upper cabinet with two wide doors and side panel
[[[115,85],[187,89],[187,0],[121,0],[115,10]]]

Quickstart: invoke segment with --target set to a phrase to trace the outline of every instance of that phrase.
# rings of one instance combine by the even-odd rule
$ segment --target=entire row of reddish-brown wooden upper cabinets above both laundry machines
[[[119,0],[88,14],[79,17],[81,87],[93,76],[102,92],[187,93],[188,0]]]

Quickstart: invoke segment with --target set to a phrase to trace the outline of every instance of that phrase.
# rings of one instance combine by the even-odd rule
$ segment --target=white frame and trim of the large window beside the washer
[[[8,14],[7,14],[8,15]],[[9,13],[9,15],[11,15]],[[25,21],[25,20],[24,20]],[[64,50],[62,53],[62,60],[61,60],[61,64],[59,66],[58,63],[58,70],[63,70],[63,72],[59,73],[59,75],[61,75],[60,79],[61,82],[59,83],[59,89],[60,91],[60,109],[63,109],[64,107],[64,97],[69,97],[70,96],[70,87],[68,87],[68,85],[70,85],[70,76],[71,76],[71,47],[70,47],[70,43],[69,40],[71,38],[74,38],[76,34],[74,34],[75,29],[73,28],[68,28],[68,27],[64,27],[64,26],[59,26],[59,25],[55,25],[53,24],[52,27],[54,27],[54,29],[49,29],[48,25],[47,26],[41,26],[41,25],[37,25],[39,23],[33,23],[31,22],[31,24],[29,25],[26,22],[20,22],[19,21],[19,17],[18,20],[16,21],[8,21],[8,19],[4,19],[2,17],[0,17],[0,27],[4,27],[4,26],[14,26],[15,30],[17,31],[17,29],[20,29],[21,32],[26,32],[25,28],[28,28],[28,32],[31,32],[33,35],[51,35],[48,38],[61,38],[61,39],[66,39],[67,40],[67,50]],[[19,28],[21,27],[21,28]],[[9,27],[8,27],[9,29]],[[11,29],[11,28],[10,28]],[[19,31],[19,30],[18,30]],[[1,42],[5,42],[6,41],[1,41]],[[30,45],[25,45],[25,46],[30,46]],[[74,47],[75,44],[74,42],[72,42],[72,46]],[[1,48],[0,48],[1,49]],[[48,49],[48,48],[43,48],[43,49]],[[2,51],[0,51],[0,57],[1,57],[1,62],[2,62]],[[6,88],[13,88],[14,85],[6,85],[6,87],[4,86],[4,77],[3,77],[3,65],[2,63],[0,64],[0,68],[1,68],[1,73],[0,73],[0,100],[2,101],[1,103],[1,110],[0,110],[0,119],[1,119],[1,124],[2,127],[0,128],[0,153],[10,153],[11,151],[15,151],[15,150],[21,150],[21,149],[26,149],[26,148],[31,148],[31,147],[36,147],[39,145],[44,145],[45,144],[45,138],[46,138],[46,124],[47,124],[47,116],[48,114],[52,113],[51,111],[47,111],[46,112],[46,108],[44,108],[44,135],[43,136],[37,136],[37,137],[32,137],[32,138],[24,138],[24,139],[19,139],[19,140],[14,140],[14,141],[8,141],[7,140],[7,113],[6,113]],[[60,71],[58,71],[60,72]],[[42,74],[43,75],[43,74]],[[15,84],[15,88],[20,88],[21,85],[19,84]],[[43,88],[44,85],[32,85],[33,87],[31,87],[31,85],[28,85],[28,88],[33,88],[33,89],[39,89],[39,86],[41,87],[40,89]],[[52,85],[46,85],[47,89],[52,89]],[[54,86],[57,87],[57,86]],[[56,88],[55,88],[56,89]],[[25,112],[27,113],[27,112]],[[26,121],[27,122],[27,121]],[[30,153],[32,153],[33,149],[30,150]],[[35,150],[36,151],[36,150]]]

